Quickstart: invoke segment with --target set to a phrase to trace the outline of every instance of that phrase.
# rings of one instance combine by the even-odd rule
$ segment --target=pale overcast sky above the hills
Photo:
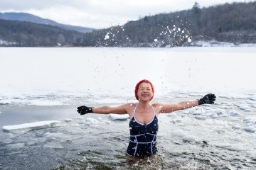
[[[196,1],[196,0],[195,0]],[[109,28],[153,16],[192,8],[191,0],[0,0],[0,12],[25,12],[58,23]],[[203,7],[252,0],[198,0]]]

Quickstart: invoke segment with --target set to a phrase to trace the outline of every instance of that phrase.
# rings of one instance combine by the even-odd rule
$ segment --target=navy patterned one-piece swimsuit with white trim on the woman
[[[138,106],[138,104],[137,104]],[[134,108],[134,113],[137,106]],[[135,157],[150,157],[152,154],[156,154],[156,134],[158,131],[158,119],[154,111],[154,118],[150,123],[139,123],[133,113],[132,119],[129,122],[130,140],[127,148],[127,154]]]

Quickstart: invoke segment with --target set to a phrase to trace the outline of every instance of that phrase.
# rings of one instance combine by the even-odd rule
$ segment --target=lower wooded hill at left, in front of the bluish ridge
[[[0,46],[73,46],[82,42],[83,35],[83,33],[65,30],[56,26],[0,19]]]

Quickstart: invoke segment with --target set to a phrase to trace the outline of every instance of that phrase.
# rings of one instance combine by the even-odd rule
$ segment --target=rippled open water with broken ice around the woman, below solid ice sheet
[[[97,114],[81,117],[75,108],[64,106],[1,106],[1,125],[33,120],[61,123],[40,130],[1,132],[0,169],[255,169],[255,132],[229,128],[233,122],[243,122],[245,115],[220,113],[217,110],[223,103],[239,110],[228,103],[233,99],[219,100],[221,105],[201,108],[206,111],[205,118],[198,117],[199,108],[159,115],[159,154],[136,160],[125,156],[129,120],[110,120],[109,115]],[[251,112],[255,113],[254,108]]]

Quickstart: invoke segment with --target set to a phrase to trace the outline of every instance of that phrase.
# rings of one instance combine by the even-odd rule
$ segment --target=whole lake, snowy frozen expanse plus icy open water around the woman
[[[255,54],[256,47],[2,47],[0,127],[60,123],[0,132],[0,169],[255,169]],[[75,108],[136,103],[141,79],[155,86],[152,103],[217,99],[159,115],[159,154],[130,161],[129,120],[81,117]]]

